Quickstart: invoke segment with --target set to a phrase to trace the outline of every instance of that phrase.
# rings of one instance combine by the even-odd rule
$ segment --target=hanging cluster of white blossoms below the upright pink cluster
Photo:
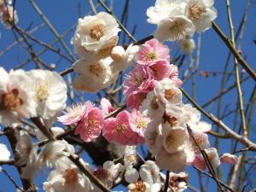
[[[161,169],[183,172],[192,164],[195,154],[200,153],[187,125],[202,149],[209,147],[207,131],[211,125],[200,121],[201,113],[197,109],[182,103],[182,92],[171,79],[159,81],[146,101],[142,113],[152,119],[145,132],[148,150]]]

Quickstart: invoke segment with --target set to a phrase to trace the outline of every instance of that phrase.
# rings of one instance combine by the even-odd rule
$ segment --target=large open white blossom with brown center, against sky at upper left
[[[108,49],[118,42],[119,31],[119,25],[112,15],[100,12],[94,16],[85,16],[79,19],[71,44],[79,55]]]

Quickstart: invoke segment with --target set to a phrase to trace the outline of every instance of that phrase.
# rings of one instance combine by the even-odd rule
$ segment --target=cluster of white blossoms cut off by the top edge
[[[217,17],[213,0],[156,0],[147,10],[148,23],[157,25],[154,37],[160,41],[179,41],[185,54],[195,48],[193,35],[205,32]]]

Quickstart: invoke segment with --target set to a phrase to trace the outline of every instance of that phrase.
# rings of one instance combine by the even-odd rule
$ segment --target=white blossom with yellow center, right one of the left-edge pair
[[[59,73],[34,69],[28,72],[37,102],[36,117],[51,119],[66,107],[67,84]]]

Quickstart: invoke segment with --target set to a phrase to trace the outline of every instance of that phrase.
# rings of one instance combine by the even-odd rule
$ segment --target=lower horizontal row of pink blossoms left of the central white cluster
[[[108,142],[117,145],[136,145],[144,143],[144,132],[150,119],[137,109],[130,112],[124,110],[114,118],[104,119],[113,111],[107,99],[102,98],[101,108],[91,102],[80,103],[67,108],[67,113],[59,117],[64,125],[77,125],[75,134],[79,134],[84,142],[94,141],[101,132]]]

